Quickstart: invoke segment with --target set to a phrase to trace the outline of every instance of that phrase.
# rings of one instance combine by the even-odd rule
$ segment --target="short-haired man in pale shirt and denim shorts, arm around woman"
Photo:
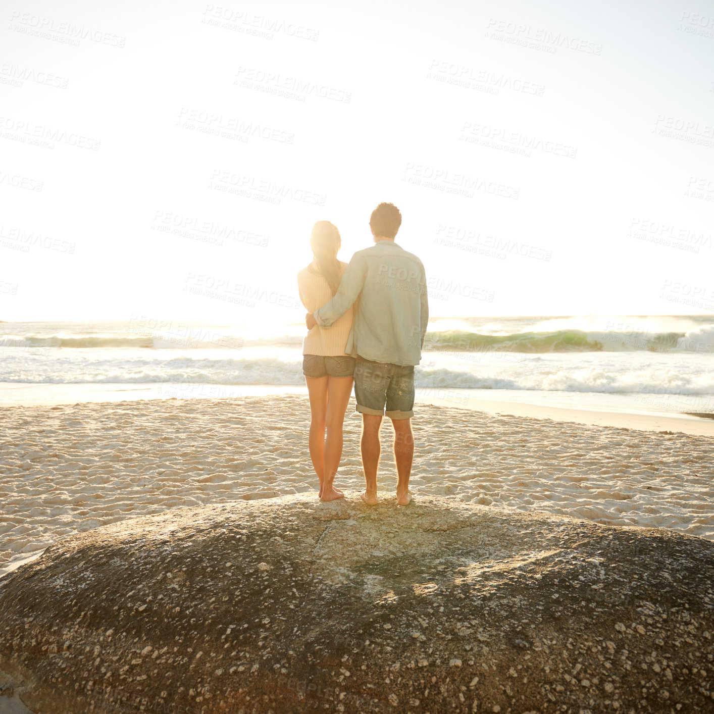
[[[374,246],[354,254],[336,295],[313,315],[308,313],[306,323],[308,328],[329,327],[357,303],[345,351],[356,358],[355,399],[362,414],[366,481],[361,498],[371,506],[377,503],[379,427],[386,413],[394,427],[397,503],[406,506],[414,455],[414,366],[421,361],[429,318],[426,275],[419,258],[394,242],[401,226],[396,206],[380,203],[369,226]]]

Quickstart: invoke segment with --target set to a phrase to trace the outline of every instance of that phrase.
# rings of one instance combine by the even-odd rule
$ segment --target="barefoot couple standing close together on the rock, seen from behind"
[[[411,501],[414,453],[411,417],[414,366],[421,360],[429,310],[424,266],[394,242],[401,213],[380,203],[369,220],[374,245],[348,265],[338,261],[340,233],[330,221],[315,223],[314,260],[298,273],[300,299],[308,310],[303,374],[310,395],[310,458],[322,501],[342,498],[333,485],[342,456],[342,425],[354,381],[362,414],[361,456],[366,490],[377,503],[379,427],[385,415],[394,427],[397,503]]]

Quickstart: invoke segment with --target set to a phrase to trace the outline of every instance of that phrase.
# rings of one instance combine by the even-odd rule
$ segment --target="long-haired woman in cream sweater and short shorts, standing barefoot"
[[[340,232],[330,221],[315,223],[310,235],[314,260],[298,273],[300,299],[308,312],[321,308],[337,292],[347,267],[337,259]],[[329,329],[316,325],[303,341],[303,374],[310,395],[310,458],[320,480],[321,501],[343,493],[333,486],[342,457],[342,423],[352,391],[355,360],[345,353],[352,328],[350,308]]]

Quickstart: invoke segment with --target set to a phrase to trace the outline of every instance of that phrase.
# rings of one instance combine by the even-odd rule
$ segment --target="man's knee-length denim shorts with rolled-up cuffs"
[[[391,419],[414,416],[414,368],[358,359],[355,365],[357,411]]]

